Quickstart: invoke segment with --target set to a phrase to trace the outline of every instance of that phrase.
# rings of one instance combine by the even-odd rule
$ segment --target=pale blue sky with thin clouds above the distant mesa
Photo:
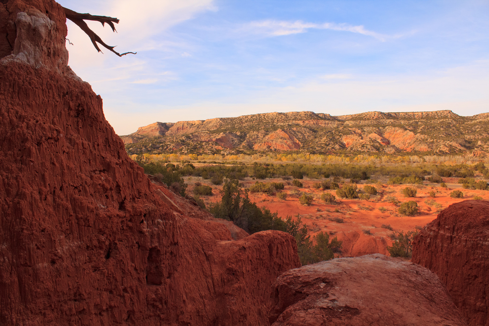
[[[102,2],[102,3],[101,3]],[[488,0],[59,0],[117,17],[67,22],[69,65],[123,135],[264,112],[489,112]]]

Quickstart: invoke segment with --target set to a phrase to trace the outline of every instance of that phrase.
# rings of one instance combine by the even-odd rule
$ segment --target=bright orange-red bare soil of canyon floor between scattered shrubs
[[[250,192],[250,200],[256,202],[259,207],[266,207],[272,213],[277,212],[279,217],[291,216],[294,220],[301,217],[311,236],[322,231],[328,233],[331,238],[337,237],[338,240],[343,241],[340,257],[357,257],[375,253],[388,255],[386,247],[392,245],[393,240],[389,236],[393,233],[421,229],[435,219],[441,210],[453,203],[472,199],[474,196],[489,199],[487,191],[462,189],[462,185],[457,183],[458,178],[444,178],[446,188],[430,183],[422,185],[387,184],[387,179],[379,178],[378,183],[371,184],[378,189],[378,195],[371,196],[369,200],[340,199],[337,198],[334,190],[323,191],[313,188],[313,183],[323,180],[304,178],[300,180],[303,183],[302,188],[293,186],[291,180],[280,178],[255,180],[247,177],[241,183],[248,188],[256,181],[283,182],[285,185],[283,192],[287,194],[285,199],[279,199],[275,195]],[[348,182],[348,180],[342,181]],[[189,194],[192,194],[196,182],[212,187],[212,196],[200,196],[206,207],[221,200],[222,185],[213,185],[210,180],[195,176],[186,177],[185,182],[188,184],[187,192]],[[364,184],[365,181],[358,184],[358,189],[363,189]],[[405,197],[402,190],[406,187],[416,188],[417,196]],[[464,197],[450,197],[450,193],[455,189],[461,190]],[[434,198],[429,196],[431,191],[436,194]],[[321,195],[326,192],[336,196],[336,204],[325,204],[321,200]],[[300,204],[298,198],[300,193],[312,195],[312,204],[309,206]],[[418,214],[416,216],[399,214],[400,203],[396,204],[394,200],[400,203],[416,201]]]

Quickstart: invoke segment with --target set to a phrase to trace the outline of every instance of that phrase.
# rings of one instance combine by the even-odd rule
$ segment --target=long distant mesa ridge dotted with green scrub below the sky
[[[130,154],[162,153],[169,144],[192,153],[249,151],[305,151],[312,153],[471,153],[489,150],[485,114],[459,116],[452,111],[366,112],[331,116],[309,111],[263,113],[235,118],[180,121],[166,133],[143,135],[141,127],[121,136]],[[157,123],[162,124],[162,123]],[[232,146],[213,139],[232,135]],[[188,140],[191,135],[191,141]],[[204,144],[205,142],[205,144]],[[173,147],[171,147],[173,148]],[[232,150],[232,151],[229,151]]]

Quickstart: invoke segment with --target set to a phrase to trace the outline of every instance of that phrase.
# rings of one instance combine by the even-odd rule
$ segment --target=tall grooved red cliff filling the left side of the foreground
[[[67,66],[59,4],[0,17],[0,325],[267,325],[294,239],[151,182]]]

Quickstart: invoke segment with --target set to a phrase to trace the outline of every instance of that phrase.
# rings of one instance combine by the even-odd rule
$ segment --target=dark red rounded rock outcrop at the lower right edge
[[[435,272],[471,326],[489,326],[489,203],[450,205],[413,242],[412,261]]]

